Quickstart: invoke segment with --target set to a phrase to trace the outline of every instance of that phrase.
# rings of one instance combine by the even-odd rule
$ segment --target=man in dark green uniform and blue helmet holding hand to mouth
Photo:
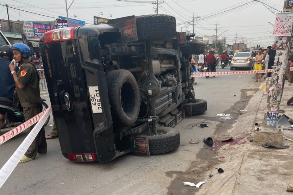
[[[9,69],[16,84],[16,91],[23,107],[25,120],[36,116],[42,111],[42,100],[40,97],[39,77],[33,63],[29,61],[30,49],[26,44],[16,43],[10,48],[13,52],[14,62],[9,64]],[[20,70],[16,74],[16,63],[19,63]],[[33,126],[28,128],[31,132]],[[47,152],[47,143],[45,139],[45,129],[40,132],[25,152],[19,163],[27,162],[36,158],[37,154],[44,155]]]

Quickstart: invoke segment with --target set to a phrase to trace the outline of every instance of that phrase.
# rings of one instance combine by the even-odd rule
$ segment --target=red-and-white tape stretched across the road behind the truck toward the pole
[[[293,67],[290,67],[290,71],[293,71]],[[220,76],[220,75],[241,75],[241,74],[256,74],[256,73],[268,73],[268,72],[272,72],[272,69],[266,69],[266,70],[260,70],[260,71],[192,72],[191,77]]]

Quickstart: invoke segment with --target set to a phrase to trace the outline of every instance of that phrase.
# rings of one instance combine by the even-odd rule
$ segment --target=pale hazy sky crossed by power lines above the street
[[[125,2],[127,1],[127,2]],[[129,2],[131,1],[131,2]],[[282,11],[284,0],[259,0],[276,10]],[[67,0],[67,6],[72,0]],[[99,17],[117,18],[129,15],[155,14],[156,0],[74,0],[68,9],[69,17],[93,24],[93,16],[100,12]],[[168,14],[176,17],[177,31],[193,31],[193,13],[195,17],[195,33],[197,36],[217,34],[220,38],[226,37],[227,43],[235,43],[244,37],[248,46],[267,47],[273,39],[271,33],[275,15],[262,3],[253,0],[164,0],[159,4],[159,14]],[[45,16],[19,11],[9,8],[10,20],[54,20],[58,15],[66,17],[65,0],[0,0],[0,5],[8,4],[10,7],[42,14]],[[278,11],[276,11],[278,12]],[[112,15],[112,17],[110,17]],[[8,19],[5,6],[0,6],[0,18]],[[227,31],[228,30],[228,31]],[[226,31],[226,32],[225,32]],[[268,32],[269,31],[269,32]]]

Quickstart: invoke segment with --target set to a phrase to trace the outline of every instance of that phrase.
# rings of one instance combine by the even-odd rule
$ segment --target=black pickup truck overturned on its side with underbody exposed
[[[64,157],[107,162],[178,148],[173,127],[207,110],[187,62],[203,50],[168,15],[45,32],[40,51]]]

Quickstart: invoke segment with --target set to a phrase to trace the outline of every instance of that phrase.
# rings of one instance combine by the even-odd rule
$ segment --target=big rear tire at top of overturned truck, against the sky
[[[137,37],[140,39],[148,38],[167,38],[176,36],[176,19],[168,15],[143,15],[136,17]]]

